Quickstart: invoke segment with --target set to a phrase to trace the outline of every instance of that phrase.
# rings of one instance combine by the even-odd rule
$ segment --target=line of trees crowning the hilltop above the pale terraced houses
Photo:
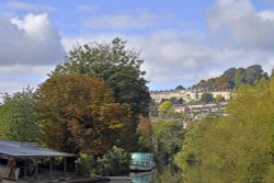
[[[227,90],[233,89],[241,84],[254,85],[256,80],[261,78],[269,79],[269,75],[262,69],[260,65],[253,65],[247,68],[230,68],[217,78],[208,80],[201,80],[192,89],[205,90]]]

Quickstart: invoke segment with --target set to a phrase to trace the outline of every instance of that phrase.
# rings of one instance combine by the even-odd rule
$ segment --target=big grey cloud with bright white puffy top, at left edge
[[[0,16],[0,93],[36,88],[65,56],[47,14]]]

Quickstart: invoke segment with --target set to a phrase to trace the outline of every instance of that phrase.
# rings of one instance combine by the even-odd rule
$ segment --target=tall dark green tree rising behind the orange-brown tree
[[[127,139],[134,145],[138,139],[136,130],[139,115],[148,116],[150,104],[147,80],[144,78],[146,72],[140,69],[142,62],[138,53],[127,49],[125,41],[114,38],[111,44],[76,46],[52,76],[80,73],[103,79],[113,90],[115,102],[132,107],[133,118],[128,125],[130,135]]]

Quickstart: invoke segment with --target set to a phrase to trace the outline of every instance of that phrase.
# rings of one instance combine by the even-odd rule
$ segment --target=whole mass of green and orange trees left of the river
[[[87,161],[94,156],[102,163],[96,169],[124,171],[127,165],[116,167],[119,148],[151,150],[150,95],[142,62],[119,38],[77,45],[35,94],[27,89],[3,95],[0,138],[38,141],[87,155]],[[109,151],[113,146],[119,148]]]

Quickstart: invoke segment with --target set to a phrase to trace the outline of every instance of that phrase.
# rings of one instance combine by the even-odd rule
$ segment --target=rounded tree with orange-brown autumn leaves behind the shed
[[[112,91],[96,78],[84,75],[55,76],[39,85],[35,108],[41,140],[50,148],[83,153],[103,153],[124,142],[130,107],[115,103]]]

